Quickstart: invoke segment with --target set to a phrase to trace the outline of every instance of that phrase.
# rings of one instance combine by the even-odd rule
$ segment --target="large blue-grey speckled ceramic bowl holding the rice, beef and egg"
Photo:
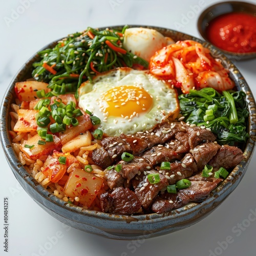
[[[138,27],[138,26],[131,26]],[[145,27],[145,26],[144,26]],[[114,27],[120,29],[122,26]],[[19,162],[13,148],[8,130],[10,130],[11,103],[14,102],[14,85],[15,82],[24,81],[31,77],[32,63],[38,59],[35,54],[24,66],[18,71],[13,78],[1,105],[1,142],[4,153],[10,168],[16,179],[23,186],[26,192],[34,199],[34,201],[45,209],[51,216],[59,221],[70,225],[71,227],[98,234],[103,237],[112,239],[144,239],[160,236],[166,233],[174,232],[190,225],[197,223],[213,210],[215,210],[228,195],[238,186],[243,178],[255,146],[256,139],[256,105],[252,93],[245,79],[238,69],[230,62],[227,57],[212,47],[208,42],[173,31],[166,28],[147,27],[158,30],[165,36],[172,37],[174,40],[191,39],[196,40],[208,48],[212,55],[222,60],[223,65],[230,70],[230,77],[236,83],[237,89],[242,90],[247,95],[249,106],[248,132],[250,138],[244,149],[245,159],[236,166],[231,174],[223,181],[209,197],[201,203],[189,203],[184,207],[166,212],[164,214],[148,214],[139,216],[120,216],[114,214],[106,214],[93,210],[83,209],[78,206],[57,198],[42,187],[32,176],[30,176],[23,165]],[[53,47],[57,41],[52,42],[45,48]],[[45,49],[44,48],[44,49]]]

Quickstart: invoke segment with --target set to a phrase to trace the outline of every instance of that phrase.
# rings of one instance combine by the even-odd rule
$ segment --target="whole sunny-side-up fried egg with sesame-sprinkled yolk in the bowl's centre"
[[[105,135],[119,136],[148,131],[178,115],[179,103],[175,89],[148,71],[118,68],[82,83],[79,107],[100,118]]]

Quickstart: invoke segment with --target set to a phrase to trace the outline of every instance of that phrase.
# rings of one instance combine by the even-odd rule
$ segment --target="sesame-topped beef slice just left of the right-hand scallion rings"
[[[177,181],[189,178],[198,172],[197,164],[191,154],[186,154],[181,161],[170,163],[170,170],[160,169],[159,173],[165,175],[169,185],[176,184]]]

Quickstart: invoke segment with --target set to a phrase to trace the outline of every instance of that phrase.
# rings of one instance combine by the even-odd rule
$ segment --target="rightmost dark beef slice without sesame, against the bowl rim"
[[[217,154],[210,160],[209,165],[229,169],[236,166],[244,159],[243,152],[236,146],[224,145]]]

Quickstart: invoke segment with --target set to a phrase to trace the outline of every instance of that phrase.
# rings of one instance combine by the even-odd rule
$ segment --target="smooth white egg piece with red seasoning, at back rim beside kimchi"
[[[129,28],[124,31],[123,47],[147,61],[156,51],[170,44],[175,44],[175,41],[155,29]]]

